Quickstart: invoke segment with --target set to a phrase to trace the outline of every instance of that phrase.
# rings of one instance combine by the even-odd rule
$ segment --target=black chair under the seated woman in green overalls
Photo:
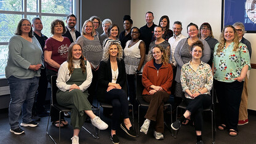
[[[58,114],[58,121],[59,121],[58,122],[58,126],[59,126],[58,127],[58,143],[60,143],[60,122],[61,122],[60,121],[60,113],[62,113],[62,112],[70,112],[71,108],[66,108],[64,106],[58,105],[57,100],[56,100],[56,93],[57,93],[57,90],[58,90],[58,87],[56,86],[56,79],[57,79],[57,75],[51,77],[51,83],[50,84],[51,84],[51,89],[52,89],[52,95],[51,95],[51,102],[50,102],[50,111],[52,110],[52,108],[55,108],[56,110],[59,111],[59,114]],[[50,121],[50,114],[49,114],[49,118],[48,118],[46,134],[49,135],[49,137],[52,139],[52,141],[54,143],[56,143],[54,138],[48,132],[49,121]],[[95,136],[94,134],[92,134],[84,126],[82,126],[82,128],[84,130],[86,130],[90,135],[92,135],[92,137],[98,138],[98,136]]]

